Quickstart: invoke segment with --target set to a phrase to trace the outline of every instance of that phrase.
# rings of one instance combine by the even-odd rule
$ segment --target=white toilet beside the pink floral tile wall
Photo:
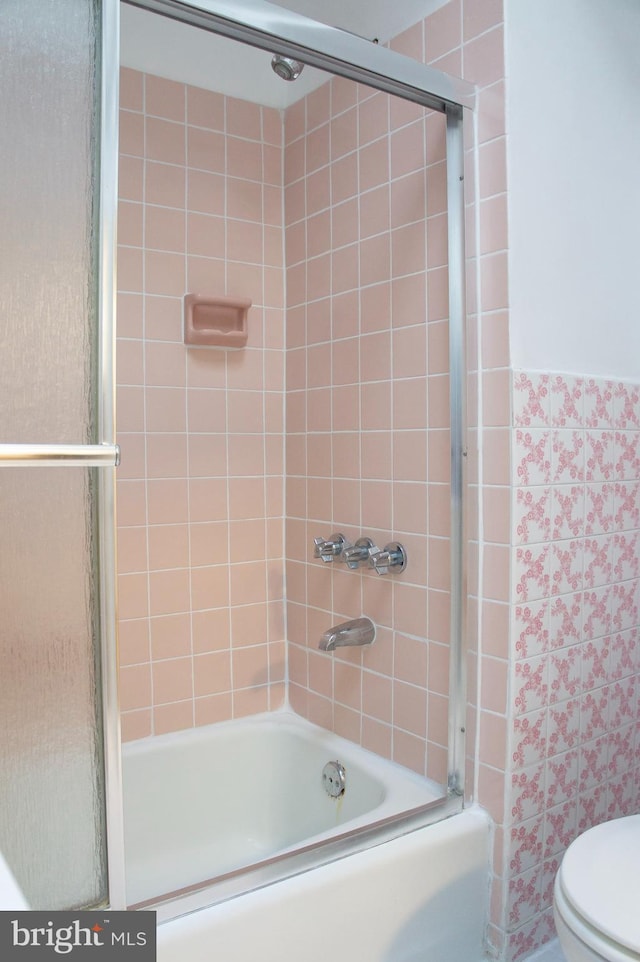
[[[596,825],[571,843],[553,908],[567,962],[640,962],[640,815]]]

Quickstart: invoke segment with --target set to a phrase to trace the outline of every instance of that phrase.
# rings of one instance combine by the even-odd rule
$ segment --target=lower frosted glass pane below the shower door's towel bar
[[[33,908],[106,895],[94,480],[0,471],[0,850]]]

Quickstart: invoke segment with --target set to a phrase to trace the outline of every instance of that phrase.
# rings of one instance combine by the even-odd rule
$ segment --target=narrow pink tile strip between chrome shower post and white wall
[[[476,85],[465,117],[467,207],[467,786],[497,826],[501,857],[509,672],[510,395],[502,0],[453,0],[426,21],[436,65]],[[477,181],[476,181],[477,178]],[[482,450],[482,471],[477,451]],[[479,527],[479,508],[482,527]],[[478,658],[478,632],[481,655]],[[479,729],[479,730],[478,730]],[[476,755],[476,746],[479,751]],[[498,916],[499,917],[499,916]],[[502,951],[503,932],[491,941]]]

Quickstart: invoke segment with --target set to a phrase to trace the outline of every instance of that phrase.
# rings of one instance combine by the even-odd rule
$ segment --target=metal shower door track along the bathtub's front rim
[[[130,911],[152,909],[158,924],[190,915],[230,899],[246,895],[256,889],[284,881],[323,865],[364,852],[370,848],[400,838],[417,829],[442,821],[463,809],[463,801],[456,796],[443,795],[426,805],[399,815],[390,815],[362,828],[334,835],[321,842],[304,845],[295,851],[283,852],[253,865],[234,869],[224,875],[205,879],[194,885],[129,905]]]

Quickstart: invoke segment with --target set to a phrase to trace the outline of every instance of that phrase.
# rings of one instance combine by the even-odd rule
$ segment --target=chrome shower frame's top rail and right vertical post
[[[463,114],[475,107],[475,87],[433,67],[395,51],[372,44],[355,34],[317,23],[263,0],[123,0],[138,7],[268,50],[292,57],[305,64],[345,77],[393,96],[402,97],[446,118],[448,294],[449,294],[449,375],[451,433],[451,628],[450,692],[448,724],[448,801],[451,814],[462,806],[465,768],[465,632],[466,562],[463,498],[465,491],[466,417],[465,417],[465,201]],[[119,763],[118,763],[119,764]],[[433,812],[426,821],[434,820]],[[425,824],[424,814],[409,813],[406,831]],[[385,826],[386,829],[389,826]],[[395,834],[402,830],[394,829]],[[369,838],[368,834],[367,838]],[[375,831],[374,831],[375,834]],[[382,840],[382,835],[373,843]],[[343,857],[351,850],[366,847],[366,839],[342,841]],[[361,843],[361,844],[360,844]],[[298,856],[300,859],[300,856]],[[326,855],[325,855],[326,860]],[[329,858],[330,860],[330,858]],[[312,853],[303,871],[311,867]],[[296,869],[291,874],[295,874]],[[253,873],[256,875],[256,873]],[[258,876],[260,870],[258,870]],[[271,880],[271,879],[269,879]],[[256,883],[261,884],[257,877]],[[267,884],[262,881],[262,884]],[[232,894],[238,894],[233,892]],[[231,897],[227,895],[226,897]],[[182,911],[211,904],[204,893]],[[171,910],[165,917],[171,917]],[[182,914],[180,909],[175,914]]]

